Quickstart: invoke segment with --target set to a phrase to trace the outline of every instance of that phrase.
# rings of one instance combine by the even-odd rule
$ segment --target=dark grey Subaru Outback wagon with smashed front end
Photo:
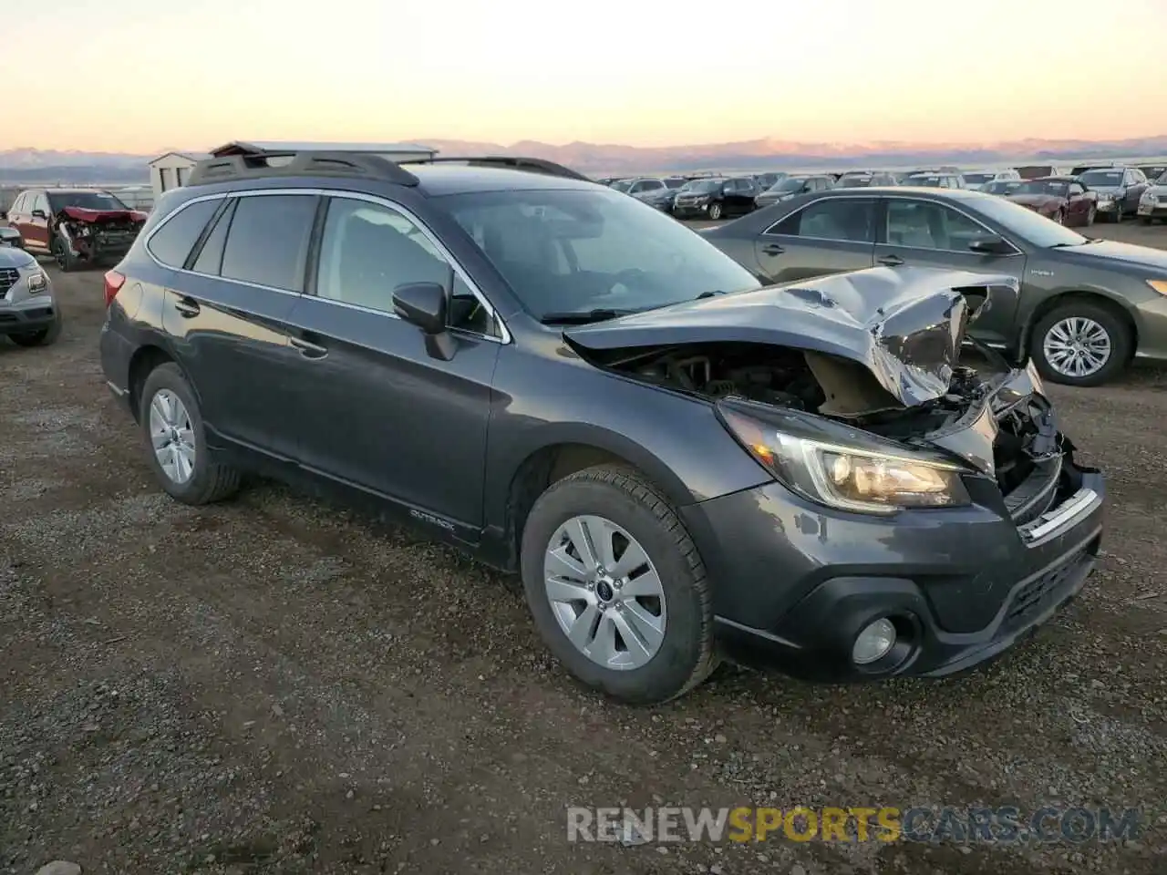
[[[763,287],[536,169],[198,164],[106,275],[102,363],[161,488],[260,470],[397,509],[519,572],[552,652],[630,702],[722,653],[949,674],[1084,584],[1100,474],[1032,366],[962,360],[1013,278]]]

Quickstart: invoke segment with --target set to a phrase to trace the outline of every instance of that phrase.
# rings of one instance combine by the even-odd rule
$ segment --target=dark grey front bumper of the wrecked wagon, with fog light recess
[[[683,510],[711,579],[715,634],[735,662],[823,681],[942,677],[1028,637],[1093,569],[1100,474],[1067,463],[1074,494],[1016,526],[999,509],[826,511],[777,483]],[[867,666],[855,637],[890,618],[899,643]]]

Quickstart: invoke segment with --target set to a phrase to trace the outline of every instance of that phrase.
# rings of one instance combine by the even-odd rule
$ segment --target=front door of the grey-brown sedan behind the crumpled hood
[[[1001,273],[1021,282],[1025,256],[985,256],[969,249],[973,240],[998,237],[967,215],[937,201],[913,197],[883,200],[875,264],[889,267],[943,267],[950,271]],[[992,306],[978,315],[970,334],[987,343],[1012,343],[1018,298],[994,292]]]

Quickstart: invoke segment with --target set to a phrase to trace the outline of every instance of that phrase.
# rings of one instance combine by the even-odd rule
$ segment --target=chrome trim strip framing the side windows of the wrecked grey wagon
[[[376,204],[378,206],[385,206],[385,208],[387,208],[390,210],[399,212],[401,216],[404,216],[410,222],[412,222],[417,226],[417,229],[425,236],[425,238],[427,240],[429,240],[431,244],[433,244],[434,249],[438,250],[438,252],[441,253],[442,258],[445,258],[446,261],[449,262],[449,266],[453,268],[454,273],[457,274],[457,276],[462,280],[462,282],[466,284],[466,287],[470,289],[471,294],[474,294],[474,296],[477,299],[478,303],[482,304],[482,307],[487,310],[487,313],[494,320],[495,324],[498,326],[499,336],[496,337],[496,336],[489,335],[489,334],[478,334],[477,331],[469,331],[469,330],[462,329],[462,328],[452,328],[450,330],[457,331],[457,332],[463,334],[463,335],[470,335],[473,337],[478,337],[481,340],[490,341],[491,343],[498,343],[498,344],[508,344],[508,343],[511,343],[511,341],[513,340],[513,337],[512,337],[512,335],[510,332],[510,329],[506,328],[506,323],[503,321],[502,316],[498,315],[498,310],[496,310],[495,307],[494,307],[494,304],[491,304],[490,301],[487,300],[487,296],[482,293],[482,289],[480,289],[478,286],[477,286],[477,284],[475,284],[474,280],[470,279],[469,274],[466,272],[466,270],[462,267],[462,265],[460,265],[457,262],[457,259],[454,258],[454,256],[445,246],[445,244],[442,244],[442,242],[439,240],[434,236],[434,233],[426,226],[426,224],[420,218],[418,218],[417,215],[414,215],[408,208],[403,206],[401,204],[399,204],[396,201],[392,201],[392,200],[390,200],[387,197],[380,197],[379,195],[368,195],[368,194],[365,194],[363,191],[347,191],[344,189],[323,189],[323,188],[264,188],[264,189],[247,189],[245,191],[225,191],[225,192],[224,191],[219,191],[219,192],[216,192],[216,194],[212,194],[212,195],[200,195],[198,197],[191,197],[189,201],[183,202],[181,206],[179,206],[176,210],[173,210],[168,216],[166,216],[162,220],[160,220],[156,226],[154,226],[153,229],[151,229],[149,235],[147,235],[146,240],[144,242],[142,249],[146,251],[146,254],[149,256],[151,260],[154,261],[154,264],[156,264],[159,267],[162,267],[162,268],[165,268],[167,271],[176,271],[177,273],[186,273],[186,274],[190,274],[191,276],[201,276],[203,279],[209,279],[209,280],[219,280],[219,281],[223,281],[223,282],[232,282],[232,284],[235,284],[237,286],[246,286],[249,288],[258,288],[258,289],[263,289],[264,292],[278,292],[278,293],[280,293],[282,295],[294,295],[296,298],[301,298],[301,296],[315,298],[319,301],[324,301],[324,302],[334,304],[336,307],[345,307],[348,309],[358,310],[361,313],[370,313],[370,314],[375,314],[375,315],[378,315],[378,316],[387,316],[389,318],[397,318],[397,320],[401,318],[400,316],[398,316],[392,310],[377,310],[377,309],[373,309],[371,307],[362,307],[359,304],[345,303],[343,301],[334,301],[334,300],[331,300],[329,298],[320,298],[319,295],[305,295],[303,292],[293,292],[293,290],[287,289],[287,288],[277,288],[274,286],[265,286],[265,285],[259,284],[259,282],[250,282],[247,280],[237,280],[237,279],[233,279],[231,276],[221,276],[221,275],[214,274],[214,273],[202,273],[200,271],[188,271],[186,267],[174,267],[172,265],[167,265],[163,261],[161,261],[151,251],[149,244],[151,244],[151,240],[154,239],[154,235],[156,235],[159,231],[161,231],[163,228],[166,228],[166,224],[170,219],[173,219],[175,216],[177,216],[180,212],[182,212],[183,210],[186,210],[191,204],[202,203],[204,201],[225,200],[228,197],[263,197],[265,195],[305,195],[305,196],[309,196],[309,197],[347,197],[347,198],[349,198],[351,201],[363,201],[365,203]]]

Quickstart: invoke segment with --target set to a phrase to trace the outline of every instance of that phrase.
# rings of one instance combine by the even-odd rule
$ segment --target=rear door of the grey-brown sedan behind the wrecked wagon
[[[874,197],[824,197],[759,236],[755,254],[773,282],[871,267],[875,250]]]

